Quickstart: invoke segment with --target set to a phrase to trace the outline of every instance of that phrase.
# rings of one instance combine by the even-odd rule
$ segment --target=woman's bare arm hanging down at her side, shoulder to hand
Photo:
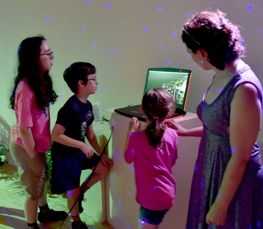
[[[250,114],[249,119],[247,114]],[[215,203],[206,216],[207,223],[225,224],[227,209],[241,183],[260,130],[260,122],[261,101],[257,88],[251,83],[241,84],[231,103],[229,137],[232,156]]]

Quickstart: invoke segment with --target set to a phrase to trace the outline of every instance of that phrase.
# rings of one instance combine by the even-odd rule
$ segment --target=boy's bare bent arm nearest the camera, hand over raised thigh
[[[65,130],[66,129],[64,126],[62,126],[60,124],[55,124],[53,131],[52,131],[52,134],[51,134],[51,138],[55,142],[58,142],[58,143],[63,144],[65,146],[71,146],[71,147],[81,149],[83,151],[83,153],[85,153],[87,158],[90,158],[93,156],[94,151],[93,151],[92,147],[88,146],[85,142],[75,140],[75,139],[72,139],[72,138],[64,135]]]

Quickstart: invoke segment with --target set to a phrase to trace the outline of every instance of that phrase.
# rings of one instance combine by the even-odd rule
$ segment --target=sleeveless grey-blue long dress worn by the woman
[[[209,87],[197,107],[197,115],[203,122],[204,131],[192,180],[187,229],[263,228],[263,167],[257,142],[246,165],[241,184],[229,206],[225,225],[208,225],[205,221],[206,214],[218,194],[231,157],[227,133],[230,123],[230,104],[236,88],[243,82],[251,82],[258,88],[262,104],[261,84],[250,67],[246,65],[231,78],[213,103],[204,102]]]

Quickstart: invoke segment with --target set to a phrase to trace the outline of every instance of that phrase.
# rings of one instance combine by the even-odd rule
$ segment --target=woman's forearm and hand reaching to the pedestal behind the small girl
[[[202,137],[203,135],[203,126],[195,127],[192,129],[185,129],[181,125],[179,125],[175,119],[169,119],[164,121],[164,123],[169,127],[174,129],[178,136],[183,137]]]

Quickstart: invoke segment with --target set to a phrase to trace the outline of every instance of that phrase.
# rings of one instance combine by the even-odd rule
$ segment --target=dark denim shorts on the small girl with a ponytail
[[[158,225],[168,210],[169,209],[155,211],[141,206],[140,220],[149,224]]]

